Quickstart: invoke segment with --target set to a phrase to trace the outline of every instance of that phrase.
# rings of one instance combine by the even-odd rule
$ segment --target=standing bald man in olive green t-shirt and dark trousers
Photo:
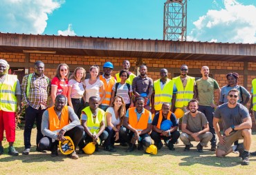
[[[214,107],[219,105],[219,96],[221,94],[221,88],[217,81],[209,77],[210,70],[208,66],[201,68],[202,78],[196,80],[197,99],[199,100],[199,111],[205,114],[206,119],[209,122],[210,132],[212,133],[211,151],[216,151],[216,133],[212,125],[212,119],[214,114]],[[214,104],[214,92],[217,92],[217,104]]]

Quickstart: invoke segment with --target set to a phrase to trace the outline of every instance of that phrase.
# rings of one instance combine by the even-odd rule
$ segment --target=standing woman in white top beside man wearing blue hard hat
[[[89,106],[89,99],[91,96],[96,96],[99,101],[99,105],[102,103],[103,99],[105,98],[105,90],[104,90],[104,83],[98,79],[99,75],[99,66],[93,65],[90,68],[91,78],[84,80],[85,85],[85,107]],[[102,93],[100,95],[100,92]]]

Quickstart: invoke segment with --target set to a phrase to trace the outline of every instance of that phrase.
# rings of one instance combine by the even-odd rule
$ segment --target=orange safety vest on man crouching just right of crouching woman
[[[140,120],[137,119],[137,114],[135,112],[136,107],[129,108],[129,125],[131,127],[134,127],[138,131],[142,131],[147,129],[147,122],[149,121],[149,114],[150,112],[146,109],[144,109],[144,113],[141,114]]]

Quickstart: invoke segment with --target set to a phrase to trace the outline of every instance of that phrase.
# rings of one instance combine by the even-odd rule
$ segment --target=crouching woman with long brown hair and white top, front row
[[[109,137],[104,141],[104,150],[116,152],[113,145],[119,139],[119,130],[125,117],[125,101],[121,96],[116,96],[111,106],[113,107],[107,108],[106,111],[107,127],[105,130],[109,133]]]

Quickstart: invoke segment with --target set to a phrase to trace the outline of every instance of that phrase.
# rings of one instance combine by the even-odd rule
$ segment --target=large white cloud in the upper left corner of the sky
[[[1,0],[0,31],[42,34],[51,14],[64,0]]]

